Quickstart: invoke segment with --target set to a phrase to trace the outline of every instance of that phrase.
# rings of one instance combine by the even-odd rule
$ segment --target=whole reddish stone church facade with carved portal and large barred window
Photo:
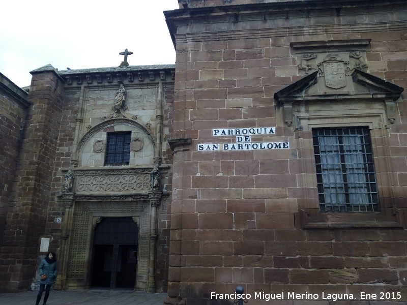
[[[2,291],[405,302],[407,4],[178,2],[175,66],[2,78]]]

